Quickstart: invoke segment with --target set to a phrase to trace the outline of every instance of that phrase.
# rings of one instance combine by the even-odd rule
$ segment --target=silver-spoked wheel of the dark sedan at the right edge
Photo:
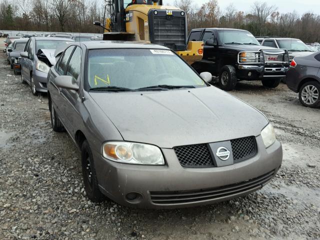
[[[316,81],[305,82],[299,89],[299,100],[304,106],[320,106],[320,84]]]

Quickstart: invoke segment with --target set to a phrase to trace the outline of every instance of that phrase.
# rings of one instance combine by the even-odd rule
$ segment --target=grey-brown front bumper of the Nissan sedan
[[[261,136],[257,136],[256,141],[258,152],[255,156],[223,167],[182,167],[173,149],[162,149],[166,159],[166,165],[163,166],[117,163],[102,158],[100,152],[92,153],[100,189],[110,199],[138,208],[177,208],[227,200],[255,191],[266,184],[280,167],[282,147],[276,141],[265,149]],[[261,177],[265,181],[259,181]],[[247,185],[250,179],[253,185]],[[223,193],[211,194],[221,189]],[[130,200],[127,198],[128,193],[138,194],[139,197]],[[176,194],[188,197],[177,201],[174,197]],[[167,197],[170,200],[161,202],[159,196],[160,199]]]

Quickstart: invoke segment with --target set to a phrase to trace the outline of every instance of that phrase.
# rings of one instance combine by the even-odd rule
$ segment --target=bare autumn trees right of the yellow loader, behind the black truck
[[[304,42],[320,41],[320,15],[306,12],[280,13],[274,5],[255,1],[247,12],[238,11],[231,3],[220,9],[217,0],[197,6],[196,0],[175,0],[185,10],[188,28],[231,27],[250,31],[255,36],[296,37]],[[284,11],[285,9],[281,9]]]

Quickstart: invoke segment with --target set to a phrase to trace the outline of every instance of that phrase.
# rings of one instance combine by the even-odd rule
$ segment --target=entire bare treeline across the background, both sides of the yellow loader
[[[320,15],[306,12],[280,13],[276,6],[256,1],[247,12],[231,3],[225,9],[217,0],[198,6],[196,0],[175,0],[186,11],[188,30],[198,27],[246,29],[256,36],[297,37],[320,41]],[[92,25],[108,16],[102,0],[0,0],[0,29],[29,31],[102,32]],[[283,11],[285,9],[281,9]]]

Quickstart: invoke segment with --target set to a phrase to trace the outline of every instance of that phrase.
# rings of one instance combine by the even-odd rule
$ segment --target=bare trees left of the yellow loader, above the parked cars
[[[101,33],[93,21],[104,9],[99,0],[0,0],[0,29]]]

